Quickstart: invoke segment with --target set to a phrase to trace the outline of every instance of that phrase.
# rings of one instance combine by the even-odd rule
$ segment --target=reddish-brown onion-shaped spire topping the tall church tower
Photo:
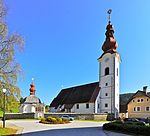
[[[112,10],[109,9],[107,11],[107,13],[108,13],[108,25],[106,27],[106,33],[105,33],[106,39],[103,43],[102,50],[104,51],[104,53],[107,53],[107,52],[113,53],[113,52],[116,52],[118,44],[114,38],[114,29],[113,29],[113,26],[111,24]]]

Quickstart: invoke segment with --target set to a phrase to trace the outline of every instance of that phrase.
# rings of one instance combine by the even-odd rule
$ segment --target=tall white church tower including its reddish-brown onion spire
[[[119,117],[119,64],[120,55],[117,52],[118,44],[114,37],[110,14],[106,27],[106,39],[102,45],[103,54],[99,57],[99,84],[100,84],[100,113],[112,113]]]

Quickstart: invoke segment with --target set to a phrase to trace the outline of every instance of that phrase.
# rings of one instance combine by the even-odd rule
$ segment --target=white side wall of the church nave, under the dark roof
[[[86,108],[87,103],[78,103],[79,109],[77,109],[77,104],[74,104],[74,106],[71,109],[71,112],[74,113],[94,113],[95,112],[95,104],[89,103],[89,108]]]

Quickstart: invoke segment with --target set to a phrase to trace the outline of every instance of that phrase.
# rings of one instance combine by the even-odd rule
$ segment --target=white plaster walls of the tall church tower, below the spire
[[[109,60],[108,60],[109,59]],[[107,60],[107,61],[106,61]],[[106,53],[100,62],[100,112],[115,113],[119,111],[119,64],[120,56],[118,53]],[[105,76],[105,68],[109,67],[109,75]],[[117,76],[118,68],[118,76]],[[106,83],[108,84],[106,86]],[[108,94],[107,96],[105,94]],[[108,103],[108,107],[105,107]],[[112,107],[112,109],[111,109]]]

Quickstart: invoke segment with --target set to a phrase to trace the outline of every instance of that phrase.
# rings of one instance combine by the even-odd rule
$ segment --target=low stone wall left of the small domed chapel
[[[6,113],[6,119],[34,119],[35,113]]]

